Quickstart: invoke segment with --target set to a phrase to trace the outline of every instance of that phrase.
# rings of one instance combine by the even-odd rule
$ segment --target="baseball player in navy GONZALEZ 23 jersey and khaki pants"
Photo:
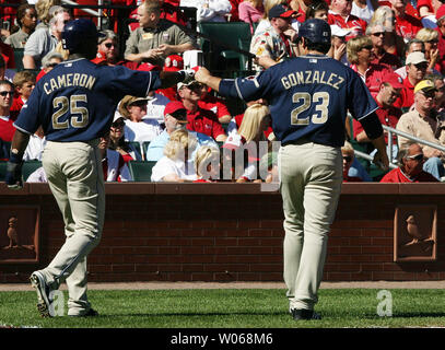
[[[347,112],[372,135],[374,162],[389,165],[376,103],[361,78],[326,56],[330,27],[309,19],[300,27],[303,56],[256,77],[222,80],[200,68],[195,79],[223,96],[266,98],[281,141],[280,191],[284,211],[284,281],[295,320],[319,319],[314,312],[323,277],[329,226],[342,183],[341,147]]]

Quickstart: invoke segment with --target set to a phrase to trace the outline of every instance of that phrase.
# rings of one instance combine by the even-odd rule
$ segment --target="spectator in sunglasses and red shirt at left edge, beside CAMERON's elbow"
[[[8,80],[0,80],[0,139],[7,142],[12,141],[15,127],[12,125],[17,113],[11,114],[12,101],[14,97],[14,85]]]

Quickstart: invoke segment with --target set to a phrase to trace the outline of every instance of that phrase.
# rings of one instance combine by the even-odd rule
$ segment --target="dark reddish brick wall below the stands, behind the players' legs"
[[[257,184],[106,184],[90,281],[282,281],[282,208]],[[445,186],[344,184],[329,237],[326,281],[445,279]],[[1,264],[0,282],[26,282],[63,243],[46,184],[0,187],[0,206],[40,206],[40,262]],[[437,261],[394,262],[395,208],[436,205]],[[442,215],[443,217],[443,215]]]

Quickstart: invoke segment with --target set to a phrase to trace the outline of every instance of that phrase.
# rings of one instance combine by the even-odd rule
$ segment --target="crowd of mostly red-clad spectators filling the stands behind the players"
[[[0,1],[5,3],[5,1]],[[0,154],[13,121],[36,82],[68,58],[63,25],[86,13],[61,0],[9,0],[0,8]],[[96,4],[96,1],[78,1]],[[375,150],[360,121],[346,118],[343,182],[441,182],[445,179],[445,1],[437,0],[113,0],[128,7],[126,32],[102,28],[96,65],[133,70],[178,71],[215,62],[202,60],[196,23],[247,23],[255,56],[246,75],[300,55],[298,28],[307,19],[331,27],[328,56],[354,70],[375,98],[393,170],[356,156]],[[188,18],[184,8],[196,10]],[[114,15],[124,8],[105,10]],[[94,19],[97,23],[97,19]],[[195,32],[198,31],[198,32]],[[222,34],[223,35],[223,34]],[[215,37],[215,42],[220,38]],[[241,47],[239,47],[241,48]],[[14,55],[22,52],[22,56]],[[16,61],[20,57],[20,61]],[[218,61],[220,65],[221,61]],[[229,66],[226,66],[229,67]],[[251,70],[248,68],[251,67]],[[221,67],[221,69],[225,69]],[[231,68],[232,69],[232,68]],[[237,77],[235,72],[234,77]],[[153,182],[277,182],[276,138],[267,101],[229,101],[196,81],[125,96],[109,133],[101,139],[104,178],[132,178],[132,162],[153,163]],[[418,139],[407,137],[413,136]],[[419,140],[420,139],[420,140]],[[431,142],[422,143],[422,140]],[[31,137],[25,161],[42,161],[44,130]],[[238,152],[239,151],[239,152]],[[238,159],[241,160],[238,162]],[[374,166],[374,167],[373,167]],[[374,174],[371,174],[374,172]],[[34,178],[34,179],[33,179]],[[44,182],[42,168],[28,180]]]

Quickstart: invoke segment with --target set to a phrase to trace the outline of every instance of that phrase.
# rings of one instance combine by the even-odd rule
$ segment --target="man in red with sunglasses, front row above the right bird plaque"
[[[398,167],[391,170],[380,183],[437,183],[430,173],[423,171],[423,151],[419,143],[407,143],[397,154]]]

